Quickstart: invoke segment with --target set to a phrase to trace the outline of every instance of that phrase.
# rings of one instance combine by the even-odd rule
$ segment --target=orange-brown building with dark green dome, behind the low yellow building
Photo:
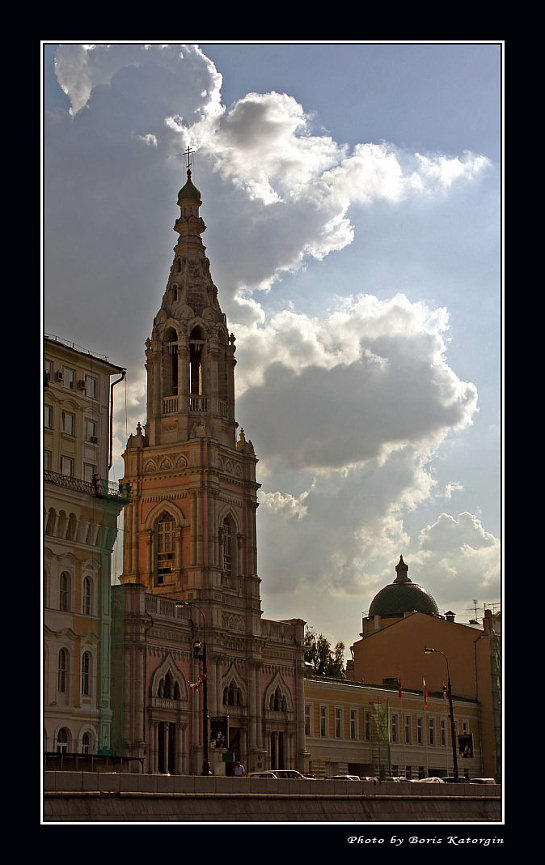
[[[361,639],[351,647],[351,677],[380,685],[400,679],[404,689],[443,693],[450,678],[454,698],[456,746],[463,753],[464,719],[457,701],[479,708],[479,763],[471,774],[501,780],[501,616],[484,611],[481,624],[455,621],[454,613],[439,614],[435,599],[408,576],[400,558],[395,580],[381,589],[362,619]],[[425,649],[434,652],[425,653]],[[450,738],[450,730],[448,731]],[[462,738],[460,738],[462,737]]]

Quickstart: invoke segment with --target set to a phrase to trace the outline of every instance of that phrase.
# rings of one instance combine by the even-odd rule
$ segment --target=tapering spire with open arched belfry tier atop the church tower
[[[211,436],[235,438],[235,338],[229,334],[201,235],[201,193],[189,167],[178,193],[180,216],[161,308],[146,342],[146,434],[150,445]]]

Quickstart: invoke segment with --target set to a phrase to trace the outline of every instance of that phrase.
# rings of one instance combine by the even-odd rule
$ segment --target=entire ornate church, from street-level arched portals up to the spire
[[[187,172],[146,341],[147,418],[124,453],[130,503],[113,588],[112,745],[144,771],[304,766],[304,622],[262,617],[257,458],[235,420],[235,337]]]

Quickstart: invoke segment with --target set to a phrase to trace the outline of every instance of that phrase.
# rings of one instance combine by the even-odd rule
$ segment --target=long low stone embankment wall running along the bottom
[[[44,822],[500,822],[501,788],[45,772]]]

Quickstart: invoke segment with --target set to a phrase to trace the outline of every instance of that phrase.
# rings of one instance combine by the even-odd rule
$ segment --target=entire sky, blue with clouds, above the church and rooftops
[[[190,144],[260,459],[264,615],[333,642],[400,554],[459,621],[501,598],[501,62],[499,43],[44,45],[44,327],[128,370],[115,476]]]

